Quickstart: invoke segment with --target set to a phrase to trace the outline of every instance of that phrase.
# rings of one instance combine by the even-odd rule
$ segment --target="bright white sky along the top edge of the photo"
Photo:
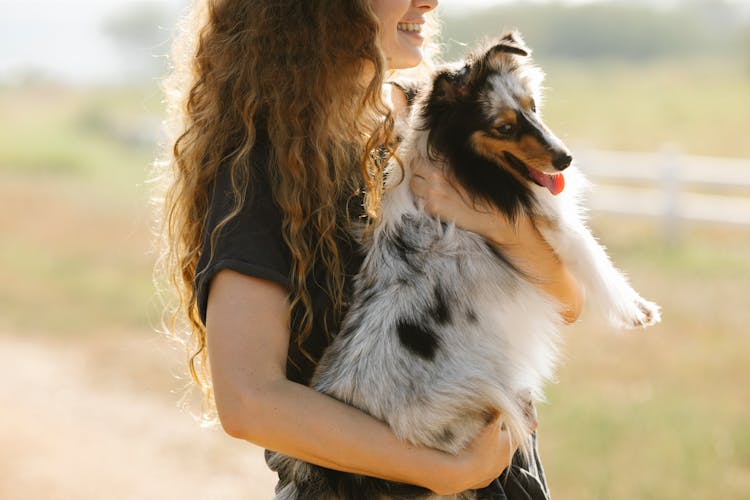
[[[509,0],[441,0],[446,13],[460,14]],[[529,0],[544,2],[546,0]],[[563,0],[579,4],[598,0]],[[650,0],[673,4],[680,0]],[[750,2],[750,0],[731,0]],[[187,0],[150,0],[175,12]],[[127,61],[102,30],[103,22],[143,0],[0,0],[0,82],[31,71],[69,83],[111,83],[125,78]],[[168,53],[169,30],[164,43],[143,47],[142,56]],[[132,63],[133,61],[130,61]]]

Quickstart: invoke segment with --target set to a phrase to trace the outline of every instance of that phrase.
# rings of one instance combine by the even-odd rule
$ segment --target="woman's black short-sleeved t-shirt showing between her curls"
[[[220,230],[213,254],[211,231],[234,208],[230,170],[227,165],[219,168],[211,188],[203,248],[195,279],[198,310],[204,323],[211,279],[222,269],[231,269],[247,276],[269,280],[292,292],[292,257],[282,237],[282,215],[271,191],[268,157],[268,140],[263,134],[259,134],[251,153],[251,181],[246,202],[240,213]],[[350,211],[350,214],[357,217],[361,213],[355,212],[356,210]],[[346,296],[351,289],[351,278],[359,270],[362,255],[359,245],[347,231],[340,229],[336,240],[346,272],[343,304],[346,309]],[[321,286],[321,283],[325,283],[325,268],[320,263],[316,263],[313,268],[313,274],[307,280],[307,289],[313,304],[313,329],[305,340],[303,349],[300,349],[297,344],[300,311],[292,311],[291,341],[287,357],[287,377],[306,385],[309,385],[317,360],[338,329],[338,324],[332,316],[333,306]],[[326,331],[326,328],[329,331]]]

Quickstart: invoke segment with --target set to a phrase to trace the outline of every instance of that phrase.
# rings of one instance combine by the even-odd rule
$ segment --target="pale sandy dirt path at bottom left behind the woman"
[[[176,407],[155,339],[107,338],[0,334],[0,499],[271,497],[259,448]]]

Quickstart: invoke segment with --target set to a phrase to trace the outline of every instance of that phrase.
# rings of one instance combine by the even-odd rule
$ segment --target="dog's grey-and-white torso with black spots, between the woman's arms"
[[[408,179],[383,203],[314,386],[403,439],[457,452],[494,411],[521,422],[524,399],[541,396],[559,305],[482,238],[419,210]]]

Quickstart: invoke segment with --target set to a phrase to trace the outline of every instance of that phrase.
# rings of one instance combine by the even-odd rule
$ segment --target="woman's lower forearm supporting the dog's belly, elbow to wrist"
[[[315,465],[432,490],[456,466],[454,457],[401,441],[383,422],[285,379],[242,399],[234,437]]]

